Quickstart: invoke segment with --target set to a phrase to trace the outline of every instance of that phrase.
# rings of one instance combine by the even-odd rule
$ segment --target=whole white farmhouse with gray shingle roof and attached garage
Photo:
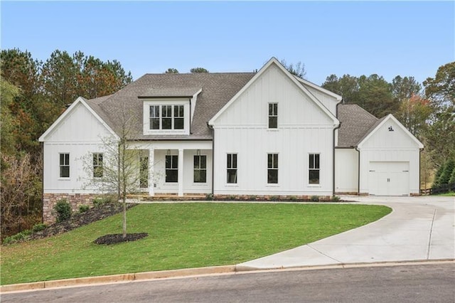
[[[272,58],[257,73],[146,74],[113,95],[78,97],[39,139],[45,214],[97,193],[84,180],[102,174],[102,138],[118,138],[125,115],[149,196],[419,194],[423,145],[395,117],[341,105]]]

